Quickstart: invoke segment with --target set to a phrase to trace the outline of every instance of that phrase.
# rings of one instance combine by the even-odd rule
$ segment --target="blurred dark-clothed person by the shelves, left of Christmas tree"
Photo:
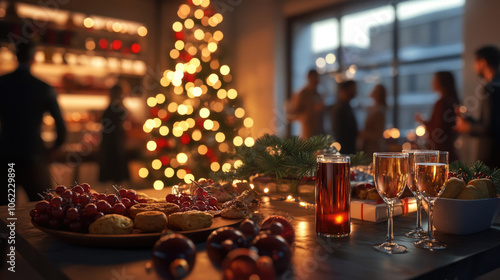
[[[110,102],[101,119],[99,181],[120,183],[129,179],[126,132],[123,127],[129,111],[123,105],[123,88],[116,84],[110,90]]]

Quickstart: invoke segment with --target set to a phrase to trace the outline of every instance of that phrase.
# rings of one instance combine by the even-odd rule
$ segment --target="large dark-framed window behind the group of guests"
[[[321,74],[325,104],[336,101],[336,84],[358,83],[351,105],[362,129],[370,92],[386,87],[387,127],[402,135],[417,127],[414,114],[429,115],[437,94],[432,91],[436,71],[452,71],[461,84],[462,17],[465,0],[412,0],[387,5],[337,5],[329,10],[290,19],[290,94],[305,85],[306,73]],[[325,128],[329,115],[325,113]],[[291,134],[300,134],[292,126]]]

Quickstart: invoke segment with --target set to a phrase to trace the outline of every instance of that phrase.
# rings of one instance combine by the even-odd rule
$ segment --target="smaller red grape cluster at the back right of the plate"
[[[203,188],[196,188],[193,196],[189,196],[186,193],[181,193],[179,196],[174,194],[168,194],[165,200],[170,203],[175,203],[179,205],[182,212],[189,210],[199,210],[199,211],[217,211],[217,199]]]

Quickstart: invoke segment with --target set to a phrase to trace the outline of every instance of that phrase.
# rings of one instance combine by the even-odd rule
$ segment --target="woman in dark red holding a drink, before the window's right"
[[[419,114],[415,114],[415,120],[426,129],[427,145],[429,149],[449,152],[450,162],[458,160],[455,149],[457,132],[454,130],[456,114],[455,106],[458,100],[455,78],[449,71],[434,73],[432,88],[439,94],[439,99],[434,105],[429,120]]]

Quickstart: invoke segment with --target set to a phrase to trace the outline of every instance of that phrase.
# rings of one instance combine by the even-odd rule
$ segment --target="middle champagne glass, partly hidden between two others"
[[[408,153],[409,161],[407,186],[417,201],[417,224],[415,225],[415,229],[407,232],[405,235],[411,238],[423,239],[427,237],[427,231],[422,228],[422,196],[420,195],[415,182],[415,152],[417,151],[423,150],[403,150],[403,153]]]

